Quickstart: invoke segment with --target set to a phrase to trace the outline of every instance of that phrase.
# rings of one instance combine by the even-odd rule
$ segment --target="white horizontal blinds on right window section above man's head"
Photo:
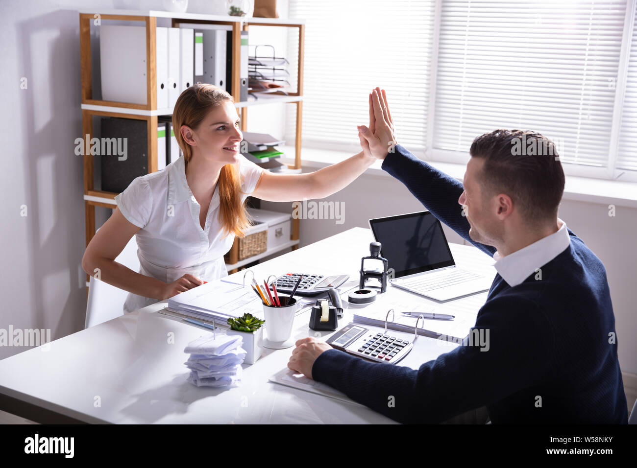
[[[606,166],[625,13],[625,1],[443,0],[434,150],[524,129],[562,162]]]

